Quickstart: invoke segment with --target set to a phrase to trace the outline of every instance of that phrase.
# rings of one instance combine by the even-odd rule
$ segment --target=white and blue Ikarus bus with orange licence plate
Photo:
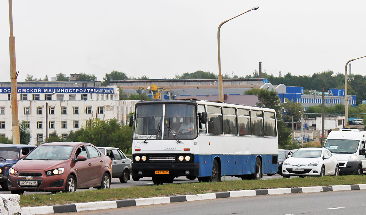
[[[136,104],[132,178],[154,184],[175,177],[220,181],[260,179],[277,172],[276,112],[269,108],[199,100]]]

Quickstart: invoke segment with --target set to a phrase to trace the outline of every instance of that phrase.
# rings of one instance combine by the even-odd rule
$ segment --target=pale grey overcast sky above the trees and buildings
[[[246,76],[344,73],[366,55],[365,0],[12,0],[18,81],[26,74],[173,78],[197,70]],[[0,74],[10,81],[8,1],[0,1]],[[366,58],[352,62],[365,73]],[[348,70],[348,69],[347,69]]]

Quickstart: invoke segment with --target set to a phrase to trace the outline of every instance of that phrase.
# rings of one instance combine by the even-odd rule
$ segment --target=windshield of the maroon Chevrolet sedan
[[[31,151],[25,160],[67,160],[71,157],[74,146],[48,145],[38,146]]]

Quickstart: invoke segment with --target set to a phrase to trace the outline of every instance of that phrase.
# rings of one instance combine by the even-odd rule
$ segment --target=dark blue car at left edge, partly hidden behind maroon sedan
[[[21,157],[27,155],[36,146],[25,144],[0,144],[0,184],[4,190],[8,189],[8,174],[12,165]]]

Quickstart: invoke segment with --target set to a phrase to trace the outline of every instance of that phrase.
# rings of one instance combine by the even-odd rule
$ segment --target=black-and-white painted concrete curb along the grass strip
[[[94,201],[86,203],[65,204],[57,206],[40,206],[40,207],[22,207],[22,215],[31,214],[53,214],[65,212],[79,212],[91,211],[108,208],[122,208],[130,206],[141,206],[151,204],[164,204],[180,201],[197,201],[205,199],[220,199],[229,197],[243,197],[243,196],[261,196],[261,195],[278,195],[286,193],[314,193],[314,192],[328,192],[328,191],[351,191],[364,190],[366,184],[355,185],[333,185],[324,187],[295,187],[295,188],[275,188],[275,189],[256,189],[256,190],[240,190],[240,191],[226,191],[219,193],[203,193],[197,195],[180,195],[180,196],[164,196],[151,197],[140,199],[125,199],[116,201]]]

